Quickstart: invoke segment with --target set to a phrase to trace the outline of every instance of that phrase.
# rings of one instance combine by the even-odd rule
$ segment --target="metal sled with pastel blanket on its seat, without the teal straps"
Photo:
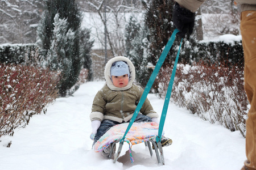
[[[112,128],[110,128],[102,137],[94,144],[94,151],[95,152],[101,152],[105,148],[109,147],[110,145],[110,155],[108,159],[111,159],[113,156],[113,148],[118,143],[125,133],[125,130],[127,129],[127,126],[129,123],[123,123],[119,125],[115,125]],[[158,127],[159,124],[156,124],[155,122],[143,122],[143,123],[134,123],[129,132],[126,134],[124,142],[129,143],[129,151],[130,151],[130,160],[131,163],[134,162],[133,156],[131,155],[131,146],[137,145],[139,143],[145,143],[146,147],[148,147],[148,150],[150,152],[150,156],[152,157],[153,151],[151,147],[154,146],[156,159],[158,160],[159,164],[164,164],[164,158],[163,158],[163,150],[162,145],[156,145],[156,135],[158,135]],[[113,162],[117,162],[117,159],[119,158],[121,154],[123,143],[119,143],[119,148],[117,151],[117,154],[114,155]]]

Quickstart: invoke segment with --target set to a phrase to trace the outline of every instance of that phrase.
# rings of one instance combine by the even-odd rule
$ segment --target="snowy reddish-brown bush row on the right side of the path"
[[[159,92],[164,97],[172,67],[159,73]],[[219,123],[245,137],[249,103],[243,88],[243,68],[217,65],[178,65],[172,100],[204,120]]]

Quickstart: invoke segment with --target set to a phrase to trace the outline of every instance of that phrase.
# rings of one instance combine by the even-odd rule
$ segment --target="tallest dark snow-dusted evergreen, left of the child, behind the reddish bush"
[[[63,36],[67,36],[66,45],[56,47],[52,44],[53,41],[56,42],[55,39],[56,34],[53,33],[55,30],[56,23],[54,21],[55,15],[59,15],[59,19],[65,19],[67,21],[67,25],[63,25],[62,27],[66,27],[64,32],[61,32]],[[55,24],[53,24],[55,23]],[[44,11],[41,23],[38,28],[38,37],[39,43],[42,48],[43,55],[48,57],[53,57],[47,59],[47,61],[51,61],[52,69],[63,70],[63,68],[67,68],[65,73],[61,74],[63,77],[61,78],[61,85],[59,86],[59,93],[61,96],[65,96],[68,90],[75,85],[77,79],[80,74],[80,70],[82,67],[82,58],[80,57],[80,24],[81,24],[81,12],[77,7],[75,0],[65,1],[65,0],[47,0],[46,1],[46,10]],[[63,29],[63,28],[60,28]],[[64,40],[59,41],[62,42]],[[61,45],[61,44],[59,44]],[[52,52],[51,50],[61,50],[60,52]],[[48,56],[49,54],[49,56]],[[56,57],[57,55],[57,57]],[[61,55],[61,56],[59,56]],[[63,56],[65,58],[63,58]],[[62,61],[59,63],[55,63],[54,66],[52,64],[53,61],[57,62],[58,59]],[[62,65],[62,66],[61,66]],[[70,65],[70,66],[68,66]],[[68,67],[67,67],[68,66]],[[55,68],[57,67],[57,68]],[[63,70],[63,71],[64,71]]]

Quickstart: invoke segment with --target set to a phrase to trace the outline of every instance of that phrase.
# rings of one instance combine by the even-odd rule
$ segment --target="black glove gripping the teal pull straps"
[[[187,38],[189,39],[195,26],[195,13],[180,7],[179,3],[176,2],[172,12],[172,21],[174,22],[174,28],[180,31],[177,33],[177,36],[185,38],[187,34]]]

